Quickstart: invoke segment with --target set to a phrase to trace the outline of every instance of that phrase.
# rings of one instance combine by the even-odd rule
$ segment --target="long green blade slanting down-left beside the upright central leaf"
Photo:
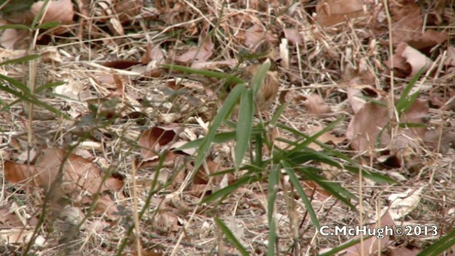
[[[207,135],[204,137],[202,144],[199,147],[198,155],[196,156],[196,160],[194,161],[194,170],[193,175],[196,174],[196,170],[199,169],[200,165],[205,159],[205,156],[208,153],[208,149],[210,149],[210,144],[212,144],[213,139],[215,138],[215,134],[218,131],[218,127],[220,127],[221,122],[224,119],[228,118],[230,112],[237,104],[237,101],[240,98],[240,95],[246,90],[244,84],[240,84],[235,86],[223,104],[223,107],[218,111],[215,118],[213,119],[212,125],[210,129],[208,129]]]

